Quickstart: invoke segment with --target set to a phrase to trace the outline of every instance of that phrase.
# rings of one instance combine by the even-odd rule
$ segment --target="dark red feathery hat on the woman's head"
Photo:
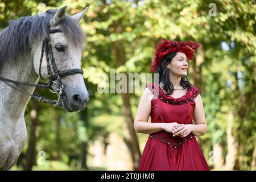
[[[200,44],[192,41],[179,42],[162,39],[162,41],[157,45],[155,57],[152,59],[150,72],[156,71],[162,59],[172,52],[183,52],[187,56],[188,60],[192,60],[195,50],[199,48],[199,46]]]

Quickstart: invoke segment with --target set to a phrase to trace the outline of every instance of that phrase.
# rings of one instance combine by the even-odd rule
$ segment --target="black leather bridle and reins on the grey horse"
[[[49,30],[49,34],[53,34],[53,33],[56,33],[56,32],[63,32],[63,31],[61,31],[59,28]],[[20,92],[35,98],[39,102],[44,102],[46,104],[52,104],[54,106],[57,106],[57,105],[60,105],[61,95],[64,93],[64,91],[63,91],[64,85],[62,84],[62,82],[60,80],[60,77],[66,76],[66,75],[71,75],[71,74],[74,74],[74,73],[83,74],[84,72],[82,71],[82,69],[68,69],[66,71],[59,71],[59,69],[57,69],[55,59],[53,57],[51,42],[50,42],[49,38],[45,38],[43,40],[43,44],[42,44],[42,52],[41,52],[40,65],[39,65],[39,76],[43,80],[44,80],[44,78],[41,75],[41,65],[42,65],[44,53],[46,54],[46,61],[47,61],[47,75],[49,77],[48,83],[38,82],[38,84],[30,84],[30,83],[27,83],[27,82],[14,81],[14,80],[10,80],[8,78],[3,78],[3,77],[0,77],[0,80],[5,82],[5,84],[11,86],[12,88],[14,88],[16,90],[19,90]],[[10,84],[10,83],[12,83],[12,84]],[[36,88],[49,89],[52,93],[59,93],[59,96],[58,96],[57,100],[52,101],[52,100],[49,100],[48,98],[40,96],[39,94],[36,94],[36,93],[29,94],[29,93],[25,92],[24,90],[22,90],[20,88],[17,88],[13,84],[15,84],[15,85],[25,85],[25,86],[34,86]],[[56,86],[56,88],[57,88],[56,91],[51,89],[52,85]]]

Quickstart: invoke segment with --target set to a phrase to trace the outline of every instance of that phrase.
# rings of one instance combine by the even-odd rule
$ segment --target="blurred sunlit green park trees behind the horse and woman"
[[[14,170],[137,169],[148,137],[133,128],[142,92],[102,94],[97,88],[110,69],[148,73],[162,38],[201,44],[187,77],[201,90],[208,133],[198,140],[210,168],[256,170],[255,1],[0,0],[0,28],[65,5],[70,15],[89,6],[80,25],[90,100],[79,113],[68,113],[31,99],[28,140]]]

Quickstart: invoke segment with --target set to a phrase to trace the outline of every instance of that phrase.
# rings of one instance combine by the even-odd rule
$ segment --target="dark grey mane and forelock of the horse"
[[[0,73],[5,63],[18,61],[20,56],[30,52],[35,40],[49,38],[49,20],[56,12],[48,10],[43,15],[23,16],[9,21],[9,26],[0,31]],[[60,21],[60,29],[69,43],[83,48],[85,34],[76,20],[65,15]]]

